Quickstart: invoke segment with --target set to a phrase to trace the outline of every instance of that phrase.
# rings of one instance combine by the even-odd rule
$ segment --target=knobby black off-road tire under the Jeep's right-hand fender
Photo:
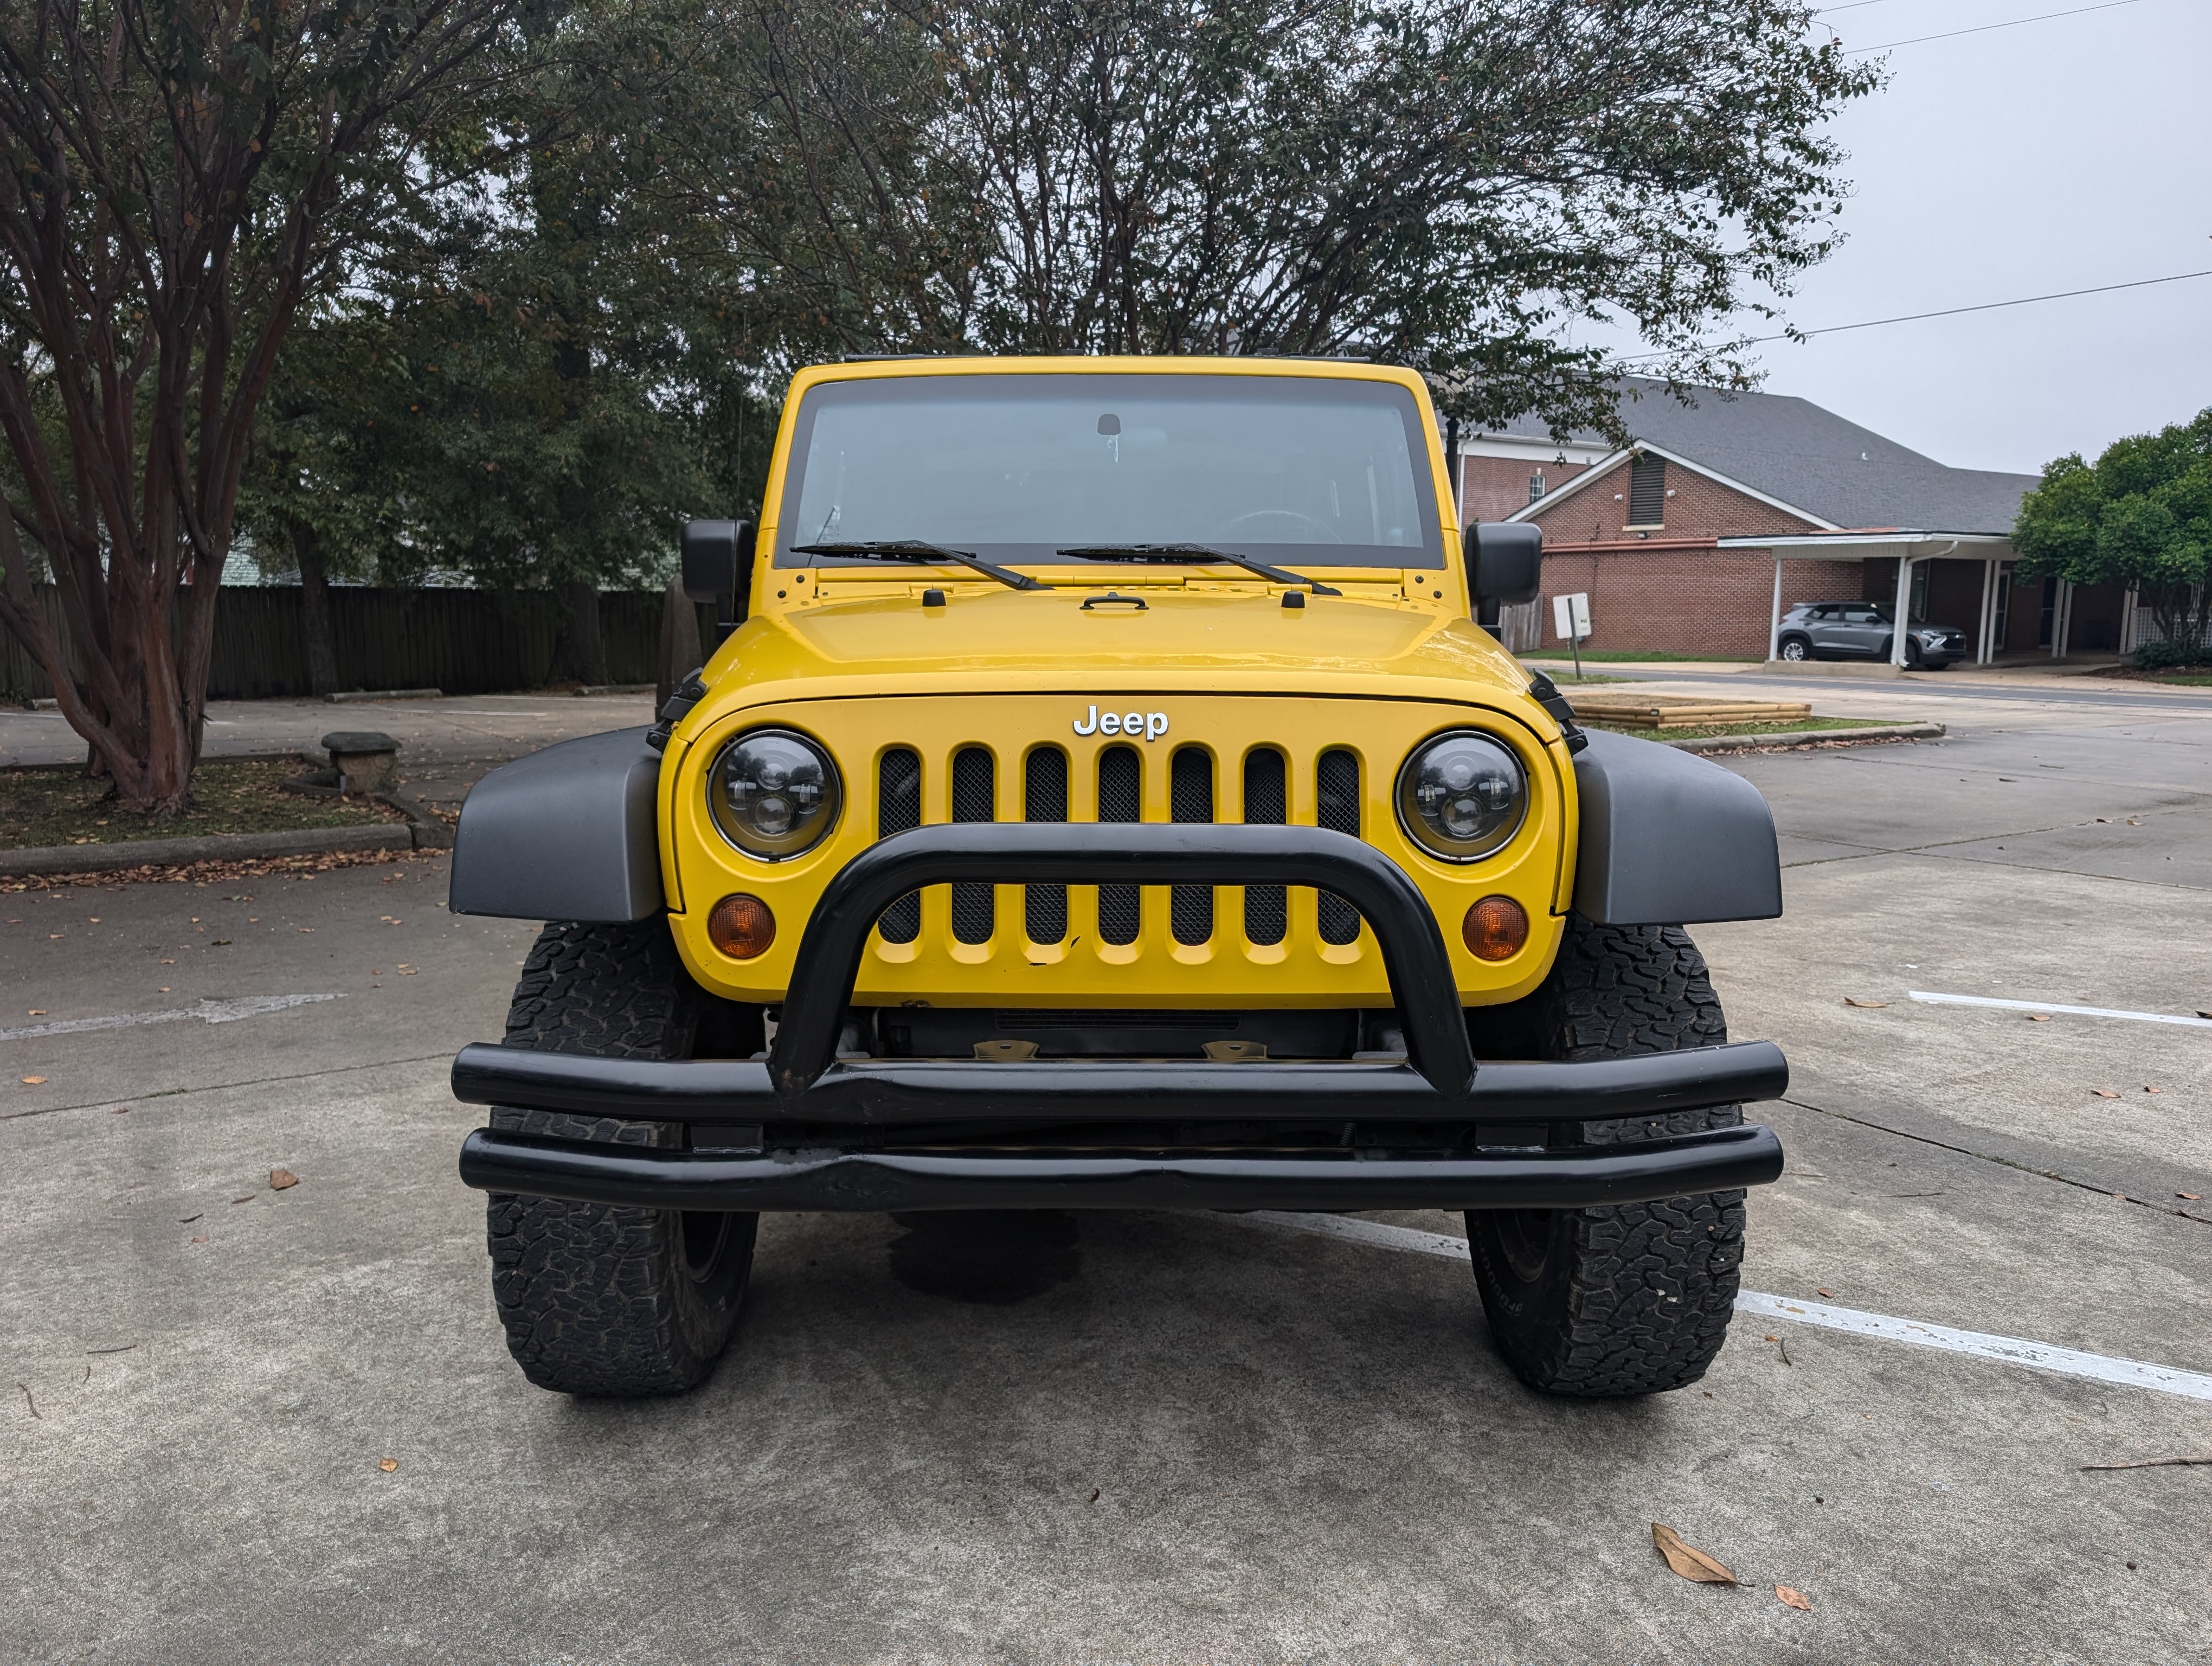
[[[1546,1060],[1670,1053],[1728,1040],[1705,960],[1681,927],[1568,916],[1528,998]],[[1725,1128],[1741,1106],[1584,1122],[1588,1144]],[[1571,1210],[1469,1210],[1482,1310],[1506,1365],[1546,1394],[1628,1398],[1694,1383],[1728,1339],[1743,1193]]]

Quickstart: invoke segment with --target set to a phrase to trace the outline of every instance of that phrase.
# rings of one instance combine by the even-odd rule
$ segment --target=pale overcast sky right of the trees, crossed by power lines
[[[1845,46],[2088,0],[1874,0]],[[2212,270],[2212,4],[2132,0],[1887,53],[1847,111],[1849,241],[1790,301],[1801,327]],[[1798,394],[1940,462],[2033,473],[2212,405],[2212,277],[1772,343]]]

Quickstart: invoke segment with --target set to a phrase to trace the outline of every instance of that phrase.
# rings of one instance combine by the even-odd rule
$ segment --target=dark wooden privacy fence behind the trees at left
[[[60,626],[51,584],[38,602]],[[540,688],[566,606],[549,591],[380,591],[332,586],[330,624],[338,688],[442,688],[493,695]],[[66,631],[64,631],[66,639]],[[659,591],[602,591],[599,639],[606,677],[650,684],[659,675]],[[226,584],[215,602],[215,699],[305,695],[307,633],[296,584]],[[0,628],[0,699],[51,699],[53,688],[11,631]]]

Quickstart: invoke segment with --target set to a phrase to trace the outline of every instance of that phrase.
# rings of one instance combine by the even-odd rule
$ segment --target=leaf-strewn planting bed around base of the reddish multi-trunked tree
[[[279,790],[285,777],[305,768],[299,761],[201,763],[192,772],[192,808],[173,819],[135,816],[117,808],[108,785],[86,781],[75,763],[0,770],[0,850],[294,827],[367,827],[403,819],[383,805]]]

